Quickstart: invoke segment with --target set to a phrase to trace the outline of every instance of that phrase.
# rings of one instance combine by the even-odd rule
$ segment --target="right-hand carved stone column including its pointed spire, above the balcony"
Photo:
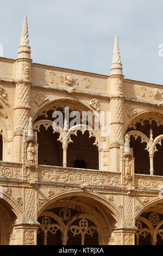
[[[118,45],[118,37],[115,36],[114,54],[111,64],[111,76],[109,77],[110,94],[110,166],[112,172],[120,172],[120,147],[123,140],[123,74]]]

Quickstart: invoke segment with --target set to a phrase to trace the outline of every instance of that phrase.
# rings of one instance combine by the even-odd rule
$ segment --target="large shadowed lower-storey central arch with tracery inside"
[[[109,244],[114,215],[87,197],[60,199],[38,218],[37,245]]]

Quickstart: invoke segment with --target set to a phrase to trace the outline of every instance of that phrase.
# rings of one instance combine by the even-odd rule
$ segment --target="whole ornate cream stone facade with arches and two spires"
[[[0,245],[162,245],[163,89],[124,78],[117,35],[110,76],[67,71],[24,17],[0,63]]]

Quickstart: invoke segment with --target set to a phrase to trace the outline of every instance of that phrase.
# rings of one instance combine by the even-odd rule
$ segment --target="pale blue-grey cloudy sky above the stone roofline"
[[[162,0],[0,0],[3,56],[17,58],[23,16],[35,63],[110,75],[115,34],[125,78],[163,84]]]

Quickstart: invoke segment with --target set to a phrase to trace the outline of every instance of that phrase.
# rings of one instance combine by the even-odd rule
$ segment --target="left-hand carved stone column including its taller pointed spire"
[[[30,115],[31,64],[27,17],[24,17],[21,41],[18,47],[18,59],[15,63],[14,152],[12,159],[14,162],[22,162],[23,130],[27,126]]]

